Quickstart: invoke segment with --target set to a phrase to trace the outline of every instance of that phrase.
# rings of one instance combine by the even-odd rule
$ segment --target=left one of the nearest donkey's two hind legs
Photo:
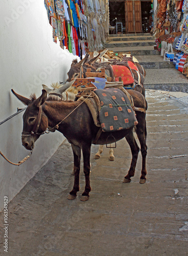
[[[128,183],[131,181],[130,178],[135,175],[135,168],[136,168],[140,148],[135,140],[133,131],[131,133],[129,133],[127,136],[125,136],[125,138],[130,146],[130,150],[132,153],[132,160],[131,160],[130,168],[129,168],[128,174],[125,176],[125,178],[123,180],[123,183]]]

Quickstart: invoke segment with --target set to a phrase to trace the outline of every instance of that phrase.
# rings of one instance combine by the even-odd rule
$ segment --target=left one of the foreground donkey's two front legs
[[[74,186],[70,191],[68,199],[73,200],[76,198],[77,191],[79,191],[79,172],[80,172],[80,158],[81,158],[81,148],[79,146],[73,145],[72,151],[74,155]]]

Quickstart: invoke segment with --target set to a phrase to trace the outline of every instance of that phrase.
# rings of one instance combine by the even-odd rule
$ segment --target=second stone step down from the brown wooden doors
[[[137,47],[137,46],[153,46],[155,42],[153,40],[144,41],[108,41],[104,44],[105,48],[117,48],[117,47]]]

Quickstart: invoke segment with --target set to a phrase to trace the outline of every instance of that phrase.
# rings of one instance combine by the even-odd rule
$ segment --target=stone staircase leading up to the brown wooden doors
[[[149,33],[109,35],[103,46],[110,51],[130,53],[136,57],[146,70],[146,89],[187,92],[187,78],[154,50],[155,38]]]

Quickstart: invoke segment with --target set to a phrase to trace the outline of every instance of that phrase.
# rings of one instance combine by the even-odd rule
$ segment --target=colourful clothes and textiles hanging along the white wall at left
[[[106,0],[44,0],[53,41],[82,58],[99,50],[109,33]]]

